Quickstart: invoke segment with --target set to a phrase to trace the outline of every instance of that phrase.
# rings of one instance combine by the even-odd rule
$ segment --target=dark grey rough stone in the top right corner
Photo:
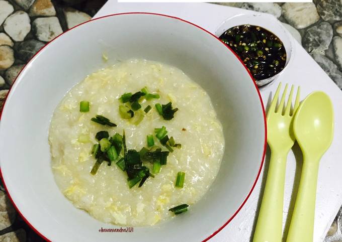
[[[325,21],[340,21],[342,20],[342,1],[318,0],[317,11]]]

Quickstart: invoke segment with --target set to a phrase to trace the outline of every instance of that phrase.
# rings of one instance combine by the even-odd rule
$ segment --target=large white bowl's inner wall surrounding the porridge
[[[48,128],[67,90],[87,74],[133,57],[174,65],[205,88],[223,124],[226,148],[216,180],[187,213],[132,233],[101,233],[101,227],[118,226],[75,208],[59,191],[50,167]],[[265,145],[260,94],[235,55],[205,30],[153,14],[96,19],[53,40],[17,77],[0,126],[1,170],[15,206],[42,236],[63,242],[205,240],[246,201]]]

